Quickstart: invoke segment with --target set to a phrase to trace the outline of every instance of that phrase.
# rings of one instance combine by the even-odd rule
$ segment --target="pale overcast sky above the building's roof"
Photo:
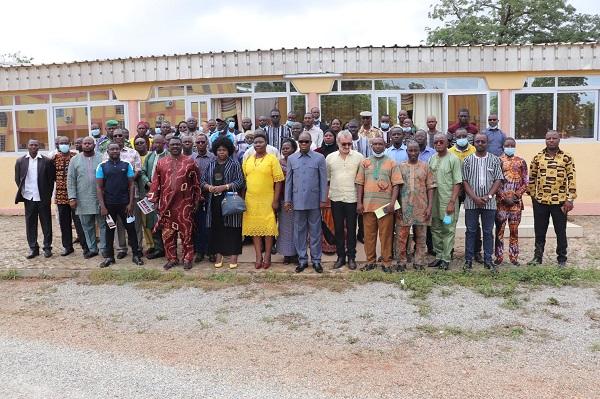
[[[290,47],[424,44],[435,0],[102,0],[2,4],[0,54],[34,63]],[[597,0],[571,1],[597,12]]]

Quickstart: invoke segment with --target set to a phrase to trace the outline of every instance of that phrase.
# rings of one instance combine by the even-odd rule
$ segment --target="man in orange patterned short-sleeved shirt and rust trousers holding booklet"
[[[394,226],[394,204],[398,198],[400,185],[404,184],[398,165],[385,155],[383,137],[371,139],[373,155],[362,161],[358,168],[356,211],[363,215],[365,231],[365,254],[367,263],[361,270],[377,267],[377,233],[381,242],[383,270],[391,271],[392,228]],[[380,219],[375,210],[385,206],[385,215]]]

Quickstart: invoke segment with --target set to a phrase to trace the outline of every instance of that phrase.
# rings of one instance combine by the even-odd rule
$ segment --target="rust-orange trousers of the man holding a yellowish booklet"
[[[392,230],[394,226],[394,214],[388,213],[381,219],[377,219],[375,212],[363,213],[365,229],[365,255],[367,263],[377,262],[377,233],[381,243],[381,256],[383,263],[389,265],[392,262]]]

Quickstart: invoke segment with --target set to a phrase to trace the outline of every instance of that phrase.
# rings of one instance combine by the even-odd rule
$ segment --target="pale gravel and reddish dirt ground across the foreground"
[[[597,398],[600,291],[0,282],[0,397]]]

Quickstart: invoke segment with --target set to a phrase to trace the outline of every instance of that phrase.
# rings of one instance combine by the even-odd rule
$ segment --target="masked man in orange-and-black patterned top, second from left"
[[[73,249],[73,226],[75,224],[75,231],[77,232],[77,238],[81,244],[83,255],[87,255],[89,252],[87,242],[85,240],[85,234],[83,227],[81,227],[81,221],[75,214],[75,211],[71,209],[69,205],[69,194],[67,193],[67,176],[69,171],[69,163],[77,153],[71,151],[71,145],[69,138],[65,136],[59,136],[56,138],[56,148],[58,152],[54,156],[54,169],[56,171],[56,189],[54,194],[54,202],[58,209],[58,223],[60,225],[60,233],[63,245],[63,251],[61,256],[67,256],[72,254],[75,250]]]

